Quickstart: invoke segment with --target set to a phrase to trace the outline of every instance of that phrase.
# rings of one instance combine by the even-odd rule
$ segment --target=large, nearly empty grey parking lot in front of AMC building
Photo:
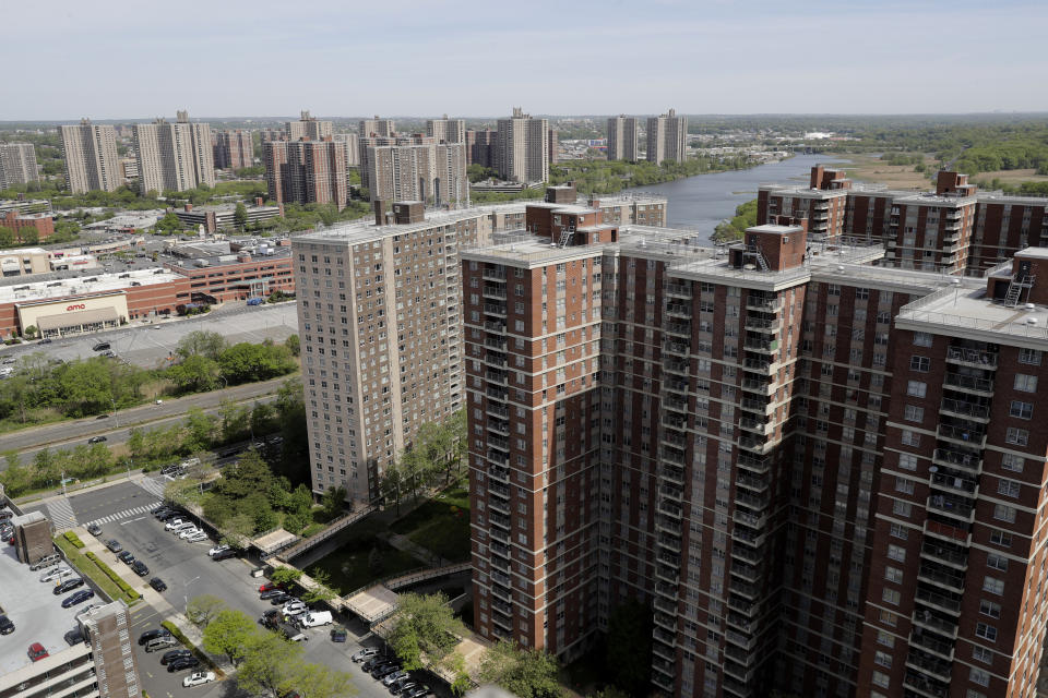
[[[14,358],[44,352],[48,358],[72,361],[97,356],[95,345],[109,342],[116,354],[144,369],[168,365],[179,340],[191,332],[207,329],[222,333],[229,344],[263,339],[284,341],[298,333],[298,315],[294,302],[248,306],[243,302],[216,305],[206,315],[172,320],[134,321],[108,332],[56,339],[47,345],[32,341],[12,347],[0,346],[0,356]]]

